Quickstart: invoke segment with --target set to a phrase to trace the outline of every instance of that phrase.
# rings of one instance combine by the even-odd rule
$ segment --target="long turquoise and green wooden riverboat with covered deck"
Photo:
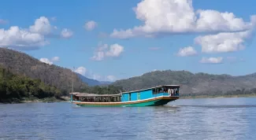
[[[162,85],[119,94],[88,94],[72,92],[70,101],[79,106],[143,107],[166,105],[179,98],[179,85]]]

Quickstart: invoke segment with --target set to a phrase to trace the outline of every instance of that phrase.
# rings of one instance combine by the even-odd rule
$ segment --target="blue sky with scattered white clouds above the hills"
[[[16,5],[13,5],[16,3]],[[102,81],[256,72],[256,1],[4,0],[0,47]]]

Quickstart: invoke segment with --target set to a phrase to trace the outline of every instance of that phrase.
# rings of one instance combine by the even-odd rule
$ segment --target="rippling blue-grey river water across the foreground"
[[[0,105],[0,139],[256,139],[256,98],[179,99],[161,107]]]

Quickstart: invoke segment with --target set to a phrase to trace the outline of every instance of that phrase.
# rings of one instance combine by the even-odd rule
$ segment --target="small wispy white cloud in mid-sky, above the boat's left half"
[[[106,57],[119,57],[123,52],[124,46],[117,43],[110,46],[100,43],[91,59],[94,61],[102,61]]]

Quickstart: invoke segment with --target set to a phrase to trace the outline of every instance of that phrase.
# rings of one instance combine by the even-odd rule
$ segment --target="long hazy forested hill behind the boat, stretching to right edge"
[[[155,71],[129,79],[117,80],[114,86],[139,90],[164,84],[179,84],[182,95],[214,95],[251,91],[256,87],[256,74],[247,76],[210,75],[187,71]],[[232,93],[231,93],[232,94]]]

